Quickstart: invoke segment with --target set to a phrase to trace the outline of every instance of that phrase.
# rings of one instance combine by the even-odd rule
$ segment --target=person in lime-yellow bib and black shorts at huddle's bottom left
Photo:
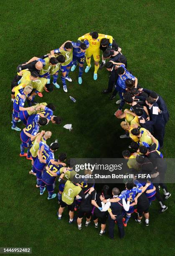
[[[76,176],[73,177],[73,182],[70,180],[63,180],[64,174],[66,174],[67,169],[65,168],[63,173],[61,174],[60,178],[58,179],[59,182],[65,184],[64,190],[62,193],[62,199],[61,199],[61,205],[57,212],[58,220],[61,220],[62,213],[64,211],[64,208],[67,206],[69,211],[69,224],[73,223],[74,218],[74,206],[75,206],[75,198],[78,195],[78,197],[81,197],[82,201],[85,200],[85,197],[90,196],[90,190],[87,195],[84,195],[83,190],[81,189],[81,185],[79,184],[79,180],[76,179]],[[91,191],[93,191],[94,188],[91,188]]]

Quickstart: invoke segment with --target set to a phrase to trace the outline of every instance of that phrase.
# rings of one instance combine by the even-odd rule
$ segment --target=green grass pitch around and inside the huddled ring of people
[[[34,255],[175,255],[174,184],[168,184],[172,193],[166,202],[168,210],[158,214],[159,204],[155,201],[150,208],[150,226],[147,228],[143,223],[138,226],[131,218],[122,241],[117,227],[114,241],[108,234],[99,236],[93,225],[78,230],[77,225],[68,224],[66,210],[62,220],[57,220],[56,199],[48,201],[47,192],[42,197],[39,195],[35,177],[28,174],[30,161],[19,157],[20,135],[11,130],[10,123],[10,82],[18,64],[47,54],[66,40],[76,41],[87,32],[99,31],[116,39],[127,56],[128,69],[142,87],[154,89],[167,102],[171,118],[162,153],[173,158],[173,3],[172,0],[1,2],[0,247],[32,247]],[[59,151],[66,152],[68,157],[119,158],[129,141],[119,138],[123,131],[120,121],[114,117],[115,100],[101,94],[107,87],[108,72],[102,69],[94,81],[93,61],[91,64],[81,86],[76,69],[70,74],[73,82],[67,82],[67,94],[56,88],[51,94],[44,94],[42,101],[53,102],[57,107],[55,114],[62,117],[61,125],[50,123],[47,130],[53,132],[52,140],[58,138]],[[61,84],[60,77],[58,82]],[[70,95],[76,98],[75,104]],[[41,98],[37,100],[41,102]],[[71,132],[63,128],[66,123],[72,123]]]

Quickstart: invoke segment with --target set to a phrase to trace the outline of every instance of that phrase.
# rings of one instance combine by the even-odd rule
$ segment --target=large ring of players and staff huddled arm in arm
[[[101,64],[99,64],[100,50],[103,52]],[[58,159],[54,156],[59,148],[58,141],[54,141],[50,146],[46,143],[47,139],[51,138],[52,132],[39,132],[41,126],[47,125],[48,122],[60,124],[61,118],[53,115],[56,110],[53,103],[37,103],[35,97],[43,97],[43,92],[52,92],[54,87],[60,88],[57,81],[59,72],[61,72],[63,90],[67,92],[66,80],[72,82],[69,73],[70,70],[74,72],[78,63],[78,83],[81,85],[84,62],[86,60],[85,73],[87,73],[91,68],[91,56],[94,58],[94,80],[97,79],[98,69],[106,67],[110,73],[108,87],[102,93],[112,93],[111,100],[117,93],[120,97],[116,102],[119,108],[114,115],[124,119],[121,127],[125,134],[120,138],[131,139],[129,145],[131,151],[127,149],[122,152],[124,159],[127,160],[128,171],[134,174],[151,173],[149,181],[137,179],[137,177],[127,181],[121,193],[117,187],[114,187],[112,196],[108,185],[104,185],[101,192],[97,193],[93,180],[75,179],[74,161],[70,159],[66,161],[66,153],[60,153]],[[108,220],[109,237],[114,239],[115,223],[119,228],[119,237],[123,238],[124,227],[127,226],[133,212],[137,213],[135,218],[137,223],[141,223],[144,215],[145,225],[148,226],[149,207],[155,199],[160,203],[160,212],[167,210],[164,200],[167,200],[171,194],[166,184],[162,183],[166,164],[164,162],[162,164],[162,161],[160,164],[158,161],[163,157],[160,149],[163,147],[165,124],[169,120],[167,106],[160,95],[142,88],[137,77],[127,70],[127,58],[122,54],[122,49],[112,36],[94,31],[87,33],[80,36],[76,42],[66,41],[49,54],[41,58],[33,57],[18,65],[17,72],[11,83],[11,101],[13,102],[11,128],[20,131],[20,157],[32,160],[32,169],[29,174],[36,176],[36,187],[40,189],[40,195],[43,195],[47,188],[48,200],[55,198],[57,196],[54,193],[55,180],[57,176],[59,177],[58,220],[61,220],[63,210],[67,207],[69,224],[72,224],[75,221],[74,211],[78,210],[76,218],[78,229],[81,230],[82,218],[86,216],[86,227],[89,226],[91,218],[94,220],[95,228],[98,228],[98,222],[101,221],[99,235],[104,235]],[[28,104],[27,108],[24,106],[25,101]],[[125,103],[129,105],[129,109],[122,112]],[[17,127],[20,121],[25,125],[22,131]],[[91,174],[91,170],[84,172]],[[163,189],[164,198],[160,194],[160,187]]]

